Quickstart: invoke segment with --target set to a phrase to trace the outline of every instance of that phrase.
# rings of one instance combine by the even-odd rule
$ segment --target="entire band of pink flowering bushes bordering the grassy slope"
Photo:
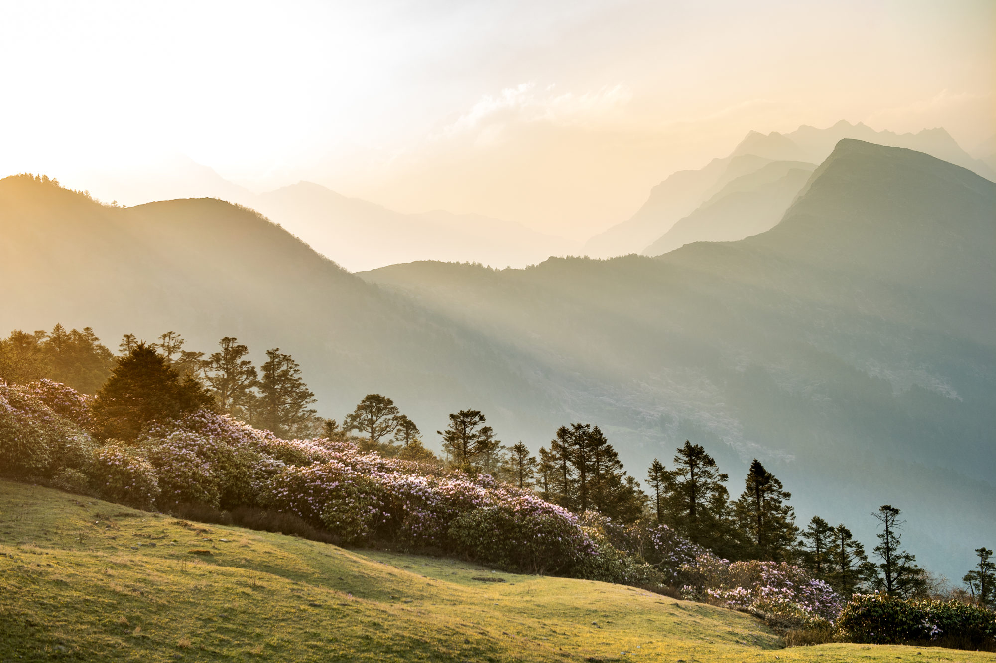
[[[833,620],[841,600],[796,566],[728,562],[664,525],[582,517],[486,474],[364,453],[348,440],[285,440],[197,411],[98,440],[90,397],[0,381],[3,472],[146,509],[256,509],[346,544],[458,554],[500,567],[664,588],[793,623]]]

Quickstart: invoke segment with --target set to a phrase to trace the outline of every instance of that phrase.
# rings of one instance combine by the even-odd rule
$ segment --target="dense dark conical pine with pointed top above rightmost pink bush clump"
[[[744,556],[784,561],[799,534],[795,511],[787,503],[792,494],[782,482],[754,459],[747,471],[744,492],[733,503],[740,534],[746,543]]]

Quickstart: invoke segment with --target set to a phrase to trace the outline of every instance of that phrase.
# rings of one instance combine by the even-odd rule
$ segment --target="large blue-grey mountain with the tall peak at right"
[[[902,505],[920,559],[953,574],[996,536],[994,209],[975,173],[843,140],[781,223],[739,242],[365,276],[586,376],[568,407],[630,464],[686,436],[728,465],[760,455],[801,514],[868,541],[862,515]]]

